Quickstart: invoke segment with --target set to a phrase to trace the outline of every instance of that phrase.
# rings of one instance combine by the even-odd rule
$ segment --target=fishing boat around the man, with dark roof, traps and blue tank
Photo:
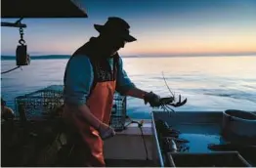
[[[50,0],[4,0],[2,18],[87,18],[85,10],[74,2],[62,0],[61,5]],[[1,25],[26,26],[21,20]],[[17,59],[17,64],[28,65],[27,58],[22,58],[23,62]],[[19,117],[1,124],[1,166],[65,166],[70,150],[64,151],[59,113],[62,87],[46,87],[16,99]],[[104,148],[107,166],[256,166],[256,112],[174,109],[152,108],[150,119],[129,118],[126,97],[116,93],[110,122],[116,135],[105,141]],[[35,115],[35,110],[41,115]]]

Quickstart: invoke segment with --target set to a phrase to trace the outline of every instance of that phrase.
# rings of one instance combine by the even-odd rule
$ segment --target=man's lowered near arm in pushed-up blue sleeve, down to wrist
[[[93,68],[85,56],[76,56],[66,67],[64,82],[64,103],[76,109],[76,114],[95,129],[99,130],[102,121],[93,115],[86,105],[87,96],[93,83]]]

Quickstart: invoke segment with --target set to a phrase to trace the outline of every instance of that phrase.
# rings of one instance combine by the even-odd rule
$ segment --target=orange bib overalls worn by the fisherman
[[[111,79],[107,81],[98,80],[86,102],[91,112],[101,121],[108,124],[112,101],[116,85],[116,61],[113,63]],[[105,79],[106,80],[106,79]],[[72,161],[77,166],[106,166],[103,145],[99,132],[89,126],[85,121],[79,119],[74,113],[77,110],[70,105],[64,105],[64,120],[69,123],[74,131],[69,134],[74,144]],[[78,133],[78,134],[77,134]],[[77,161],[76,161],[77,160]],[[73,165],[75,166],[75,165]]]

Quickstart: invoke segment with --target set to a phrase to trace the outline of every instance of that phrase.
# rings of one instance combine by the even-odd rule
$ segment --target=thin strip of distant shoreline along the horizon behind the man
[[[256,57],[256,53],[253,54],[227,54],[227,55],[168,55],[168,56],[121,56],[122,58],[195,58],[195,57]],[[46,55],[46,56],[31,56],[31,60],[56,60],[56,59],[69,59],[69,55]],[[1,56],[1,60],[16,60],[15,56]]]

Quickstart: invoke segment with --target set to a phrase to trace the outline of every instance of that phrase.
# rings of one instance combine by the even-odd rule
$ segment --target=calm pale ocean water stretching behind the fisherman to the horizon
[[[14,99],[50,85],[63,85],[67,60],[32,60],[22,69],[1,76],[1,94],[14,107]],[[172,91],[188,98],[187,110],[256,110],[256,56],[190,58],[124,58],[124,68],[133,82],[161,96]],[[15,61],[1,61],[2,71],[15,67]],[[139,99],[128,98],[128,114],[149,117],[151,108]]]

